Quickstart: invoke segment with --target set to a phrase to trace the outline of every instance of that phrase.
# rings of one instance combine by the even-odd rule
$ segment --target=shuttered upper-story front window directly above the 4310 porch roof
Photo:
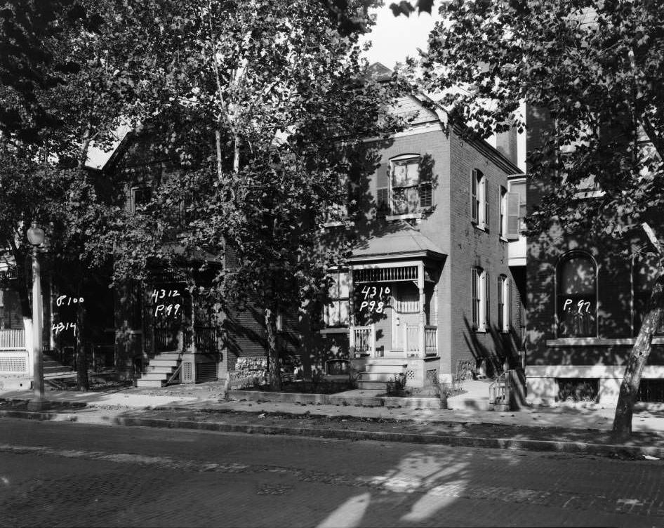
[[[388,186],[378,182],[378,211],[392,215],[420,213],[432,206],[431,179],[420,171],[422,158],[405,154],[390,160]]]

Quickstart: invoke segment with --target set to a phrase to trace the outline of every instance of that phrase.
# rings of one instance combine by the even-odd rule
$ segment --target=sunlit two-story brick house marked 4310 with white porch
[[[519,239],[510,177],[520,171],[509,153],[463,140],[462,125],[430,103],[399,100],[409,127],[378,150],[372,231],[336,271],[318,331],[323,361],[347,354],[364,386],[404,369],[411,386],[449,381],[464,359],[498,370],[520,345],[524,262],[514,254],[510,267],[508,249]]]

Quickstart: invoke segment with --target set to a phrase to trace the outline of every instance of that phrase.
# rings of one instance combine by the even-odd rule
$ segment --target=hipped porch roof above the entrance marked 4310
[[[434,258],[444,260],[446,253],[430,238],[406,223],[388,226],[356,246],[350,262],[394,258]]]

